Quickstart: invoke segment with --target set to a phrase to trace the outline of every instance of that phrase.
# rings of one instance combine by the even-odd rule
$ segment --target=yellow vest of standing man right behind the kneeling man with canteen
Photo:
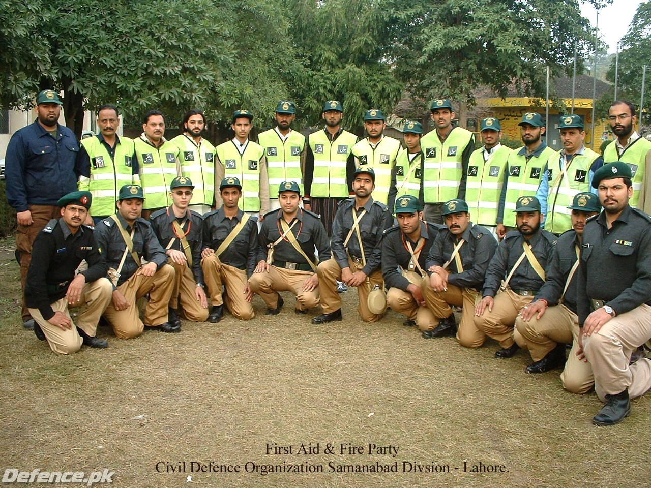
[[[400,141],[387,135],[380,139],[375,148],[368,142],[368,137],[353,146],[352,153],[357,158],[357,167],[372,168],[375,172],[373,199],[385,205],[389,202],[391,171],[396,165],[396,157],[401,149]]]

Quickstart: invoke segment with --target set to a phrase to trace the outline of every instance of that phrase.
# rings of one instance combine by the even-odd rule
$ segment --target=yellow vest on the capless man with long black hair
[[[195,189],[192,191],[192,204],[212,206],[215,193],[215,146],[201,139],[201,144],[191,137],[180,134],[172,141],[180,152],[181,176],[189,178]]]

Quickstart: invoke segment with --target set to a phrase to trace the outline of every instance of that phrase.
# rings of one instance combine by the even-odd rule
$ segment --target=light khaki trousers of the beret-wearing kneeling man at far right
[[[600,400],[628,388],[631,398],[651,388],[651,359],[629,366],[631,354],[651,339],[651,306],[640,305],[607,321],[599,332],[583,337],[585,357],[592,364],[594,391]]]

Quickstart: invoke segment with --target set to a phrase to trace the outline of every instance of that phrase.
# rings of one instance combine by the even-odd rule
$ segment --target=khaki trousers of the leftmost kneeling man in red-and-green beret
[[[88,306],[77,318],[77,327],[79,329],[86,332],[89,336],[96,335],[97,323],[100,321],[100,316],[102,316],[107,305],[111,302],[112,293],[113,286],[111,286],[111,282],[107,278],[100,278],[84,285],[81,293],[81,302],[75,305],[76,307],[82,305]],[[66,317],[70,318],[68,299],[66,297],[50,305],[55,312],[63,312]],[[44,319],[38,311],[38,308],[29,308],[29,313],[36,323],[40,325],[41,330],[48,340],[49,348],[55,353],[72,354],[79,351],[82,339],[74,323],[71,329],[63,331]]]

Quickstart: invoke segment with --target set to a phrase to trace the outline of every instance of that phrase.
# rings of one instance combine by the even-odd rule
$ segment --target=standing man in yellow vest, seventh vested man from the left
[[[372,169],[375,172],[374,199],[393,208],[396,200],[396,187],[393,185],[396,178],[396,157],[402,147],[398,139],[383,134],[385,128],[387,124],[382,111],[367,110],[364,114],[364,129],[368,137],[357,142],[352,153],[356,168]]]

